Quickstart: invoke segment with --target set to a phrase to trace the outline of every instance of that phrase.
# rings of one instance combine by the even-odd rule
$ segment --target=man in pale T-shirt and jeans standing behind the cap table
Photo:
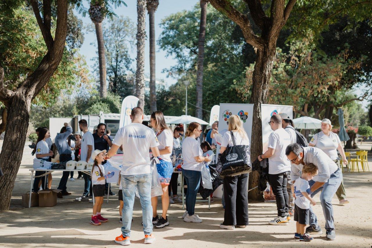
[[[92,151],[94,150],[94,139],[93,134],[88,131],[88,123],[86,120],[81,119],[79,121],[79,128],[82,131],[83,137],[81,137],[81,149],[80,149],[80,160],[87,163],[93,163],[91,158]],[[86,173],[83,174],[84,177],[84,193],[76,198],[76,201],[88,201],[89,196],[92,195],[92,178]]]

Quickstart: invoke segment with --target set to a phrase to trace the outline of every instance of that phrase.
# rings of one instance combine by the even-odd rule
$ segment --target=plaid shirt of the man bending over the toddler
[[[317,147],[303,147],[304,163],[313,163],[318,168],[318,174],[314,177],[316,182],[327,182],[331,174],[337,171],[338,167],[327,154]],[[301,171],[304,165],[300,163],[295,165],[291,163],[291,180],[295,181],[301,177]]]

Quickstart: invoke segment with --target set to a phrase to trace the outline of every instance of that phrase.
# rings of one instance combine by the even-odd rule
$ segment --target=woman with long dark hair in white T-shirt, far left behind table
[[[50,137],[49,130],[47,128],[41,128],[39,130],[39,136],[36,141],[36,146],[34,149],[34,152],[36,154],[37,159],[41,159],[44,161],[48,161],[50,156],[53,156],[53,152],[49,150],[49,146],[47,142],[45,141]],[[33,192],[38,192],[40,188],[40,179],[41,179],[41,186],[44,189],[45,185],[45,177],[37,177],[42,174],[45,174],[45,171],[36,171],[35,172],[35,179],[33,180]],[[51,177],[50,177],[51,178]],[[52,187],[52,180],[49,179],[48,187]]]

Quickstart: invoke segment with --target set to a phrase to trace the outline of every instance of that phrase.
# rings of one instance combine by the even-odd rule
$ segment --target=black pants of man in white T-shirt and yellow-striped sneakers
[[[287,178],[289,171],[280,174],[269,174],[269,180],[276,198],[278,216],[284,217],[288,213],[289,201],[287,191]]]

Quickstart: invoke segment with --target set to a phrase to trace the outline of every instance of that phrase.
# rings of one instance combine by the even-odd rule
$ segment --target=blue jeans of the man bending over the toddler
[[[333,207],[332,207],[332,198],[336,193],[337,189],[339,188],[342,182],[342,173],[340,169],[337,169],[336,172],[331,174],[331,177],[328,179],[322,187],[315,190],[311,193],[311,197],[316,195],[319,191],[320,193],[320,203],[322,204],[323,214],[325,219],[325,229],[326,230],[333,230],[334,229],[334,218],[333,218]],[[310,180],[309,185],[310,187],[315,183],[315,181]],[[312,210],[310,204],[310,225],[314,226],[315,228],[318,227],[318,219],[315,215],[314,211]]]

